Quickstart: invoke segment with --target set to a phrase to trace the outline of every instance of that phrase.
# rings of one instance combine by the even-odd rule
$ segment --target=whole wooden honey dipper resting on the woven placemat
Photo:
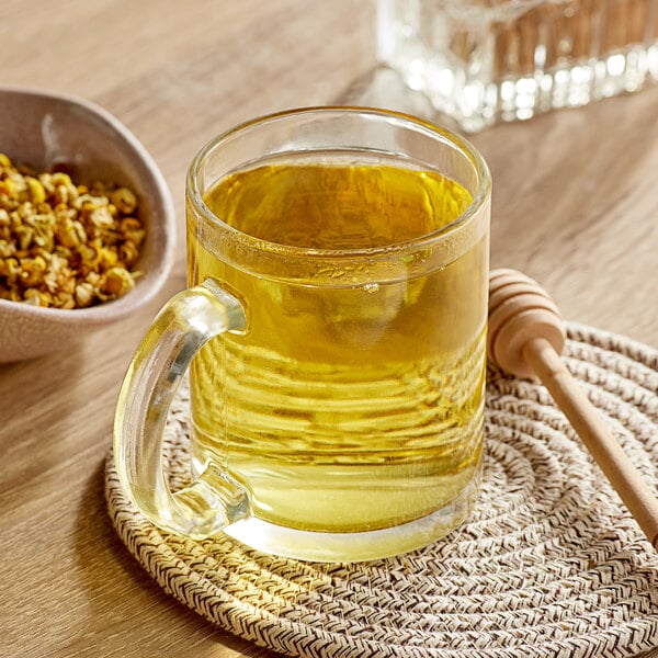
[[[658,549],[658,499],[563,363],[564,324],[547,293],[521,272],[494,270],[488,331],[489,359],[512,375],[540,377]]]

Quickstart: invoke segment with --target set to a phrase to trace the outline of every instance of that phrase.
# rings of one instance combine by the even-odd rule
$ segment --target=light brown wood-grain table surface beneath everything
[[[117,390],[185,285],[184,174],[207,139],[293,106],[416,101],[375,84],[372,0],[5,0],[1,14],[0,83],[125,123],[170,185],[180,248],[139,316],[0,365],[0,655],[270,656],[166,594],[117,538],[103,498]],[[568,319],[658,347],[658,87],[472,139],[495,182],[492,266],[541,281]]]

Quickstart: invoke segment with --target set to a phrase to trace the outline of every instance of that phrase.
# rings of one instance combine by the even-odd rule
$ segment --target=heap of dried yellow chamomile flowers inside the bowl
[[[135,286],[146,238],[129,189],[76,184],[0,152],[0,298],[84,308]]]

